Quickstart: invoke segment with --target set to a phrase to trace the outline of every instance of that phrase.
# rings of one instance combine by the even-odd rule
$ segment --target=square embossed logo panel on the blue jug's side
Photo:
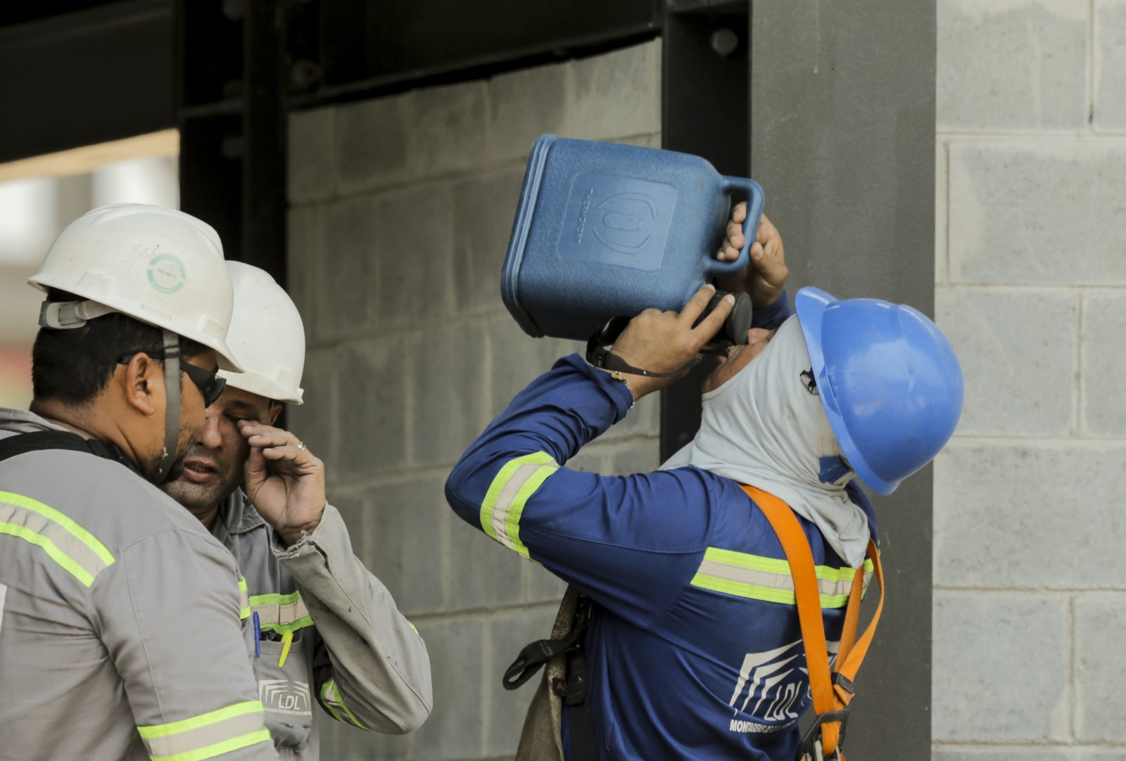
[[[558,251],[566,259],[660,269],[677,189],[634,177],[575,177]]]

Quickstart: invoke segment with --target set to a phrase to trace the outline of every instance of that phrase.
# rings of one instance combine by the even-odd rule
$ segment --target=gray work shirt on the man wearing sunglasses
[[[231,554],[125,465],[0,462],[0,759],[277,759],[241,609]]]

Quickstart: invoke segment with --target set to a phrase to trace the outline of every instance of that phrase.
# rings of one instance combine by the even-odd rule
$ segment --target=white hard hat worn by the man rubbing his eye
[[[234,314],[226,342],[242,373],[223,373],[226,385],[252,394],[301,404],[305,369],[305,326],[293,299],[265,270],[229,261]]]

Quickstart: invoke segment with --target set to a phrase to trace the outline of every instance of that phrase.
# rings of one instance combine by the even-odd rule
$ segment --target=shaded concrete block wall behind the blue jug
[[[530,686],[503,669],[546,636],[562,585],[463,523],[446,474],[531,378],[579,344],[525,335],[500,299],[524,167],[545,132],[660,144],[660,43],[295,114],[291,292],[306,403],[291,427],[328,465],[355,550],[427,642],[435,710],[405,737],[322,717],[325,759],[510,759]],[[571,463],[658,464],[643,400]]]

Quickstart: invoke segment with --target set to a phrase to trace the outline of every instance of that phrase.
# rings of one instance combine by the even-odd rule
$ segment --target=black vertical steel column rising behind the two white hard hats
[[[177,3],[180,206],[229,259],[286,283],[286,18],[280,0]],[[216,39],[225,41],[216,51]]]

